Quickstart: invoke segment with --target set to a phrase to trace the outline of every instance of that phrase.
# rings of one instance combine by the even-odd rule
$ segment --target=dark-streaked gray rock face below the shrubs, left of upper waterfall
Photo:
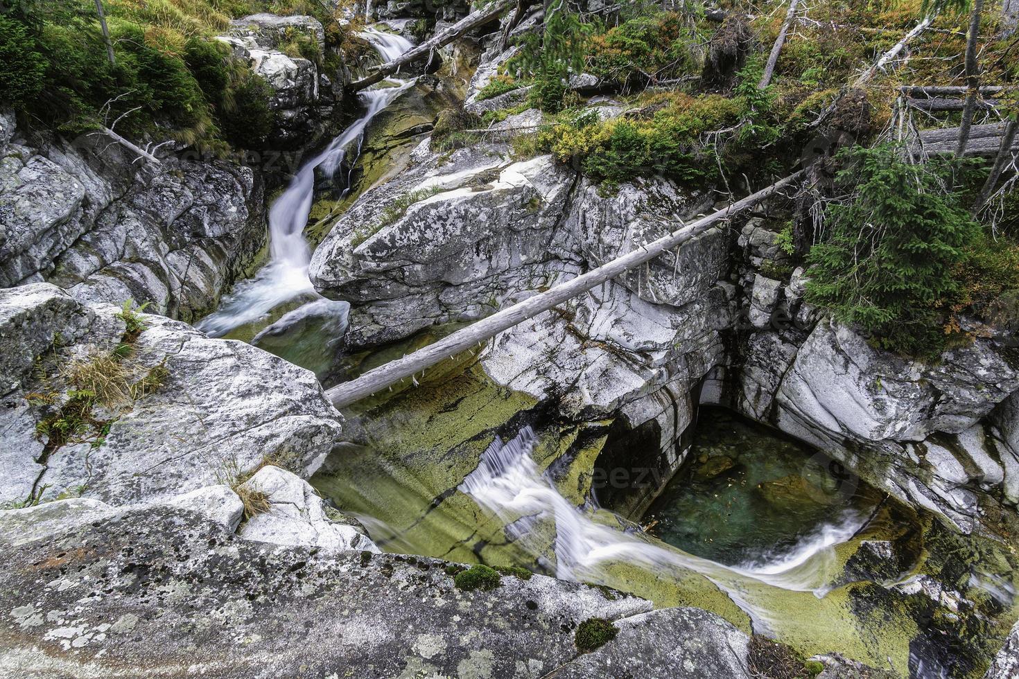
[[[51,281],[88,302],[210,309],[264,241],[262,187],[245,167],[137,162],[89,135],[0,146],[0,286]]]

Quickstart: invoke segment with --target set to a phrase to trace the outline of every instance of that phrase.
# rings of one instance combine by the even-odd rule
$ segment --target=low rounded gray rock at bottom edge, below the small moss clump
[[[747,635],[706,611],[651,611],[625,618],[616,626],[614,639],[567,663],[555,672],[556,679],[754,676],[747,669]]]

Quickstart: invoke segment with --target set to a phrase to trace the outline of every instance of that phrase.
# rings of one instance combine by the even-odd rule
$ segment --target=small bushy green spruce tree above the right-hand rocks
[[[962,297],[954,272],[979,225],[947,186],[965,172],[952,160],[914,165],[893,146],[844,151],[837,181],[850,196],[825,214],[824,240],[808,256],[807,300],[871,336],[880,348],[933,357]]]

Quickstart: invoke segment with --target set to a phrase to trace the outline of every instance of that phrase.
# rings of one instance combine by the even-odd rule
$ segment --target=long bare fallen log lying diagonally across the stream
[[[611,262],[607,262],[597,269],[592,269],[586,274],[582,274],[566,283],[555,285],[545,292],[536,294],[529,299],[497,312],[451,335],[447,335],[434,344],[430,344],[403,358],[397,358],[371,370],[356,380],[337,385],[326,391],[326,396],[329,397],[333,405],[342,407],[382,391],[400,380],[413,377],[417,373],[421,373],[425,369],[435,365],[461,351],[466,351],[476,346],[479,342],[513,328],[518,323],[537,316],[542,312],[547,312],[571,297],[597,287],[629,269],[650,262],[662,252],[703,233],[718,222],[738,215],[748,208],[752,208],[769,195],[792,184],[802,174],[802,170],[796,172],[756,193],[748,195],[742,201],[734,203],[725,210],[719,210],[707,217],[702,217],[695,222],[691,222],[668,235],[631,250]]]

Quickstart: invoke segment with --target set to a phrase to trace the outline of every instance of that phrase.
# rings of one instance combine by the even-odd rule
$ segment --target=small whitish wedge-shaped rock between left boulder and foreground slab
[[[304,545],[327,552],[362,550],[378,553],[364,529],[330,520],[315,490],[285,469],[262,467],[242,486],[263,493],[269,509],[248,519],[237,534],[276,545]],[[243,509],[243,507],[242,507]]]

